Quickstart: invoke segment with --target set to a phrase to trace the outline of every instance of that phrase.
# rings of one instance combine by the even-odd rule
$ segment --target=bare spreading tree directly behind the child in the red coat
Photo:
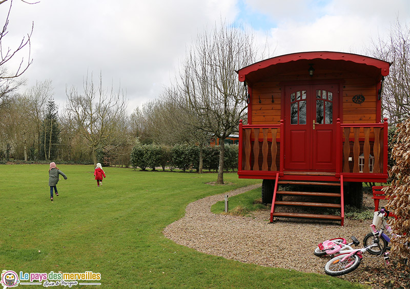
[[[124,120],[127,101],[118,88],[114,92],[103,88],[103,77],[100,74],[98,86],[94,86],[93,77],[88,75],[83,82],[83,94],[72,87],[67,92],[67,113],[75,121],[77,134],[83,143],[91,150],[94,165],[97,164],[96,152],[102,149],[112,139],[120,138],[123,133],[118,126]]]

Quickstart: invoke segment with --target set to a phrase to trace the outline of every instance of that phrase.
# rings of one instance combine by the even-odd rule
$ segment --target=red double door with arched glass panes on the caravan
[[[335,171],[339,85],[289,85],[284,90],[284,169]]]

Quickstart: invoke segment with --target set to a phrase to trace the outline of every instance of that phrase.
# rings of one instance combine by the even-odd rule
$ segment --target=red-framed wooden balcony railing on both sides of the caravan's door
[[[255,141],[257,140],[257,141]],[[263,179],[283,175],[284,122],[275,125],[239,123],[239,174]],[[387,119],[383,123],[336,123],[336,177],[386,179]]]

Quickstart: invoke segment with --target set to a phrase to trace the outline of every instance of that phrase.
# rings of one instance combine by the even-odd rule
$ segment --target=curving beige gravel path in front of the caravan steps
[[[340,223],[319,224],[317,221],[275,219],[269,223],[269,211],[256,212],[252,217],[237,217],[211,213],[211,206],[229,197],[260,187],[251,185],[199,199],[189,204],[185,217],[163,231],[169,239],[199,252],[262,266],[280,267],[302,272],[324,274],[326,257],[317,257],[313,250],[321,241],[331,237],[356,236],[360,241],[370,230],[370,221],[345,219]],[[301,261],[302,260],[302,261]],[[359,268],[344,275],[350,281],[359,281],[373,288],[385,288],[382,274],[386,270],[382,257],[366,254]],[[380,276],[380,278],[378,278]]]

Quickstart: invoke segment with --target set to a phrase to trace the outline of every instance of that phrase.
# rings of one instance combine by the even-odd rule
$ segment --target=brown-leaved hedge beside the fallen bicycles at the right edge
[[[410,242],[410,119],[397,125],[393,141],[392,159],[396,163],[389,170],[393,181],[383,190],[389,199],[386,208],[398,217],[391,221],[393,233],[403,236],[392,238],[392,253],[409,258],[410,247],[405,242]]]

